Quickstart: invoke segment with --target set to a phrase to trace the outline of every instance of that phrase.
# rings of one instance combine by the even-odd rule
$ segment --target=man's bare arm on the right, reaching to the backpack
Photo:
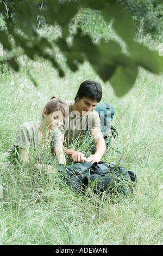
[[[93,164],[95,162],[98,163],[101,160],[105,153],[106,145],[101,130],[92,129],[90,130],[90,134],[93,142],[95,142],[96,149],[95,154],[91,154],[86,160]]]

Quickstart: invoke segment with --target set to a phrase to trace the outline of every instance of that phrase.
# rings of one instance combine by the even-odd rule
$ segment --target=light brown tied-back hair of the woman
[[[69,115],[67,104],[64,102],[64,100],[61,100],[55,96],[52,97],[51,100],[49,100],[49,102],[45,105],[45,108],[43,110],[46,110],[47,115],[58,110],[62,112],[65,118],[67,118]],[[42,113],[42,117],[43,117],[43,113]]]

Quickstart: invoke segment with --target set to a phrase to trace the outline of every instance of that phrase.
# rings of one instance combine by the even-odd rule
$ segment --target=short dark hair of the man
[[[100,102],[102,98],[102,86],[98,82],[92,80],[86,80],[82,82],[79,86],[79,90],[75,97],[75,102],[77,99],[82,99],[83,97],[93,100],[93,102]]]

